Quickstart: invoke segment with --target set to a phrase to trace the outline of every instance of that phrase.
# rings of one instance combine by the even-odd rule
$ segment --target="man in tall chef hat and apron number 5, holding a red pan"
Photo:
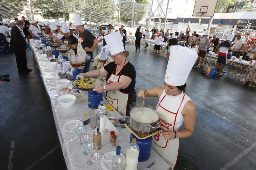
[[[78,44],[73,45],[72,49],[77,48],[77,55],[84,57],[86,63],[83,71],[88,72],[90,68],[90,62],[92,61],[92,51],[97,47],[99,41],[92,35],[90,31],[84,28],[82,18],[80,14],[74,14],[74,21],[76,29],[80,32],[78,38]]]

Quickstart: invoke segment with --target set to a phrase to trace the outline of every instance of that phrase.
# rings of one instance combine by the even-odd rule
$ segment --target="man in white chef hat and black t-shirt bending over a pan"
[[[72,47],[73,45],[77,45],[77,39],[73,35],[70,34],[68,24],[66,22],[62,22],[62,32],[63,37],[59,39],[58,37],[55,38],[56,42],[61,44],[64,43],[65,47]],[[66,54],[68,55],[68,58],[71,58],[69,60],[75,59],[77,49],[70,49]]]

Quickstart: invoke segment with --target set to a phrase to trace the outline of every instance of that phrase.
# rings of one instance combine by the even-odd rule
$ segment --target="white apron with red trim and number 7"
[[[120,71],[120,75],[122,73],[123,68],[124,68],[124,65]],[[107,85],[119,82],[120,75],[113,74],[115,70],[116,70],[116,67],[113,70],[111,76],[108,78],[106,83]],[[126,107],[128,105],[128,97],[130,93],[120,92],[120,90],[108,91],[108,95],[107,95],[108,103],[110,103],[116,109],[116,111],[122,116],[126,116]]]

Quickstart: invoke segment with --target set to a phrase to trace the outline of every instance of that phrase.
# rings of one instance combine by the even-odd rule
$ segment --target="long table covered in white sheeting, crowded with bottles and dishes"
[[[84,115],[88,113],[88,100],[84,100],[82,98],[77,98],[76,102],[73,106],[69,108],[61,107],[58,102],[58,97],[61,95],[59,88],[55,85],[57,79],[60,79],[57,73],[60,71],[57,67],[54,70],[49,70],[46,66],[46,62],[48,59],[41,59],[38,55],[39,52],[36,52],[35,49],[36,43],[35,41],[30,42],[32,50],[35,52],[35,60],[37,66],[40,70],[40,74],[44,83],[44,87],[46,89],[47,95],[50,98],[50,103],[52,107],[52,114],[55,122],[55,126],[57,129],[57,134],[60,140],[60,146],[63,152],[63,156],[69,170],[84,170],[84,169],[95,169],[95,166],[88,166],[87,160],[89,160],[89,156],[85,156],[83,154],[83,147],[78,145],[79,138],[77,137],[75,132],[67,132],[62,127],[63,124],[72,119],[81,120],[82,122],[89,118],[89,115]],[[72,85],[70,85],[71,87]],[[104,102],[110,105],[104,98]],[[119,113],[113,111],[117,117],[119,117]],[[94,129],[90,127],[90,124],[86,125],[87,133],[91,134],[94,132]],[[117,145],[121,146],[121,152],[126,152],[126,147],[129,144],[130,132],[126,128],[117,127],[119,133],[117,135]],[[54,130],[54,129],[52,129]],[[106,132],[105,135],[102,136],[102,148],[99,152],[107,153],[109,151],[116,151],[116,147],[113,147],[109,143],[110,133]],[[46,151],[47,152],[47,151]],[[156,162],[156,164],[151,168],[162,170],[167,170],[170,166],[162,159],[158,153],[151,148],[150,158],[145,162],[138,163],[138,170],[143,170],[147,168],[152,162]],[[103,169],[102,165],[99,168]]]

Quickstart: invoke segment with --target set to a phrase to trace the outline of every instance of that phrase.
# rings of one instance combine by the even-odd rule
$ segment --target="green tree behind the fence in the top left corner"
[[[0,15],[6,19],[15,18],[27,3],[27,0],[0,0]]]

